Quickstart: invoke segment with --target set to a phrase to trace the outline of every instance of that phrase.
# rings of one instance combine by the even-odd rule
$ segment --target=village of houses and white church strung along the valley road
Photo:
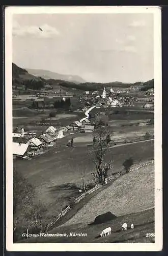
[[[24,126],[16,126],[13,129],[13,158],[21,158],[21,159],[30,159],[33,156],[40,155],[46,152],[46,149],[48,147],[51,147],[54,145],[54,143],[57,143],[58,140],[62,139],[66,135],[73,135],[77,133],[91,133],[94,131],[96,127],[95,123],[95,117],[100,117],[101,119],[104,119],[108,112],[111,112],[112,108],[116,108],[116,111],[120,111],[120,108],[129,107],[131,110],[131,107],[133,108],[137,103],[141,104],[141,109],[150,110],[153,111],[154,109],[154,94],[153,91],[149,90],[146,92],[145,98],[135,98],[131,96],[131,90],[115,90],[113,88],[110,88],[107,92],[105,88],[103,89],[102,93],[99,93],[99,91],[89,92],[86,91],[83,93],[83,95],[78,96],[78,108],[74,112],[83,113],[83,118],[79,120],[75,120],[72,123],[69,123],[69,125],[66,126],[59,126],[54,127],[53,125],[50,125],[47,127],[47,129],[44,131],[41,131],[40,134],[36,134],[34,131],[25,132]],[[134,92],[134,90],[132,90]],[[55,92],[54,92],[55,93]],[[121,96],[121,94],[123,96]],[[40,94],[42,97],[44,97],[44,93]],[[66,97],[69,97],[72,95],[68,95],[66,93],[62,96],[62,101],[64,102]],[[32,97],[32,95],[31,95]],[[54,98],[54,94],[51,96],[51,94],[46,93],[45,97],[50,99],[52,102]],[[73,96],[72,96],[73,97]],[[18,97],[19,98],[19,97]],[[17,102],[18,98],[15,98],[15,102]],[[60,96],[61,98],[61,96]],[[29,99],[29,96],[25,99]],[[44,98],[42,98],[44,100]],[[31,100],[32,102],[32,100]],[[39,102],[38,98],[34,98],[33,104]],[[52,104],[52,103],[50,103]],[[142,105],[143,104],[143,105]],[[46,108],[46,105],[44,105]],[[53,108],[53,104],[50,105],[50,109]],[[41,109],[39,107],[39,109]],[[113,109],[112,109],[113,110]],[[50,120],[52,117],[50,118]],[[39,122],[39,125],[41,127],[43,125],[46,125],[46,120],[44,123]],[[50,123],[48,123],[50,124]],[[106,124],[106,121],[105,121]],[[138,124],[138,125],[147,125],[150,124],[150,121],[144,121],[144,123]],[[107,124],[108,125],[108,124]],[[68,141],[67,141],[68,144]]]

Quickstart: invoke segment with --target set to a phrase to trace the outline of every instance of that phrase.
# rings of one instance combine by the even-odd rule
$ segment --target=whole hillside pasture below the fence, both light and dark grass
[[[128,173],[93,197],[77,214],[64,225],[53,228],[50,234],[70,232],[86,233],[86,237],[49,237],[31,238],[29,243],[152,243],[154,237],[154,166],[148,166]],[[104,224],[91,225],[96,216],[111,211],[117,219]],[[126,222],[128,230],[121,232]],[[134,230],[130,224],[134,223]],[[112,233],[98,238],[105,227],[110,226]],[[26,240],[22,240],[26,242]]]

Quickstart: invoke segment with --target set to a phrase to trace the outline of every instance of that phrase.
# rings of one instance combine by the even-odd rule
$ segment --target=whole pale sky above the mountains
[[[152,13],[13,14],[12,24],[19,67],[89,82],[154,78]]]

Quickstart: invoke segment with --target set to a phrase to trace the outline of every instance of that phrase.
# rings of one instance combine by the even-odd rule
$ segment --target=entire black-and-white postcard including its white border
[[[161,9],[7,7],[5,75],[7,249],[161,250]]]

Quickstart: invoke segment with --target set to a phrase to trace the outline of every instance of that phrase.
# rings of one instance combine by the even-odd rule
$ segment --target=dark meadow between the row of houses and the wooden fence
[[[76,191],[62,187],[66,183],[81,184],[82,171],[86,180],[91,179],[94,163],[88,155],[86,146],[76,146],[74,150],[64,146],[68,138],[63,138],[58,147],[50,148],[48,153],[37,156],[30,161],[14,160],[13,166],[17,168],[37,190],[37,199],[48,207],[48,215],[57,215],[60,203],[69,204],[69,196],[76,196]],[[114,170],[122,167],[122,163],[132,157],[134,163],[146,161],[154,157],[154,142],[143,142],[112,148],[108,159],[113,157]],[[85,160],[87,159],[87,161]]]

